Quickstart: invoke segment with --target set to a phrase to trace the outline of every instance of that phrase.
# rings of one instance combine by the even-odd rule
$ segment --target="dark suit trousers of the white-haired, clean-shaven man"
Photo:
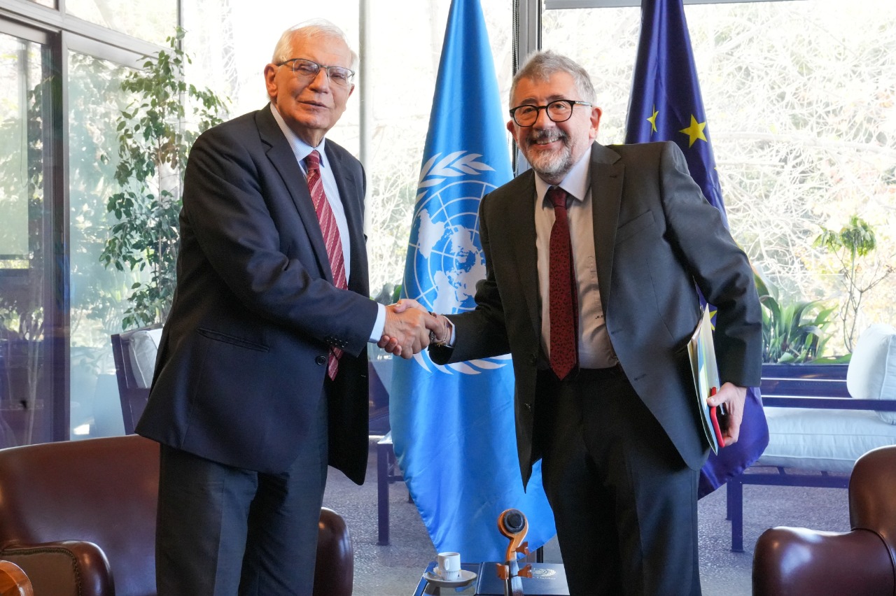
[[[322,393],[314,428],[283,473],[235,468],[161,446],[159,596],[311,596],[327,476]]]

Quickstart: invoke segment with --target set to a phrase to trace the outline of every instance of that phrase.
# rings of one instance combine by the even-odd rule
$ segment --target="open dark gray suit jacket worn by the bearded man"
[[[702,437],[686,344],[700,302],[719,309],[715,331],[722,381],[759,385],[762,315],[752,269],[703,198],[674,143],[604,147],[590,156],[594,240],[601,302],[625,375],[685,463],[699,469]],[[452,316],[455,347],[432,348],[435,362],[511,353],[517,448],[523,481],[541,456],[533,410],[541,350],[535,246],[535,182],[530,170],[488,194],[479,208],[487,275],[477,308]]]

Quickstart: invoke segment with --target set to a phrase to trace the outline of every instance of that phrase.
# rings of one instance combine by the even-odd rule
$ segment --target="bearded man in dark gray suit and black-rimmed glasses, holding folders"
[[[718,308],[723,385],[709,403],[728,405],[728,443],[745,387],[760,381],[759,301],[681,150],[599,145],[594,102],[588,73],[561,55],[533,55],[514,77],[507,127],[532,169],[482,200],[477,308],[439,316],[429,352],[436,363],[512,354],[522,478],[541,458],[573,595],[699,594],[709,445],[686,350],[695,285]],[[554,246],[561,219],[571,247]],[[554,293],[558,261],[565,297]],[[567,328],[555,328],[564,304]]]

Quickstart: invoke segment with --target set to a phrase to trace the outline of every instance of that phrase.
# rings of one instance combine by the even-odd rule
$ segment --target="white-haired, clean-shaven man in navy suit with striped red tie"
[[[410,357],[435,328],[368,297],[364,169],[324,140],[356,62],[329,22],[287,30],[264,67],[271,103],[190,153],[177,292],[137,425],[161,446],[162,596],[311,594],[327,465],[366,472],[366,345],[394,334]]]

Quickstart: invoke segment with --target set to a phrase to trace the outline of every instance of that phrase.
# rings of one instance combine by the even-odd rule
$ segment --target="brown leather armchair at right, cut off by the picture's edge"
[[[753,558],[754,596],[896,595],[896,446],[858,458],[849,476],[850,532],[777,527]]]

